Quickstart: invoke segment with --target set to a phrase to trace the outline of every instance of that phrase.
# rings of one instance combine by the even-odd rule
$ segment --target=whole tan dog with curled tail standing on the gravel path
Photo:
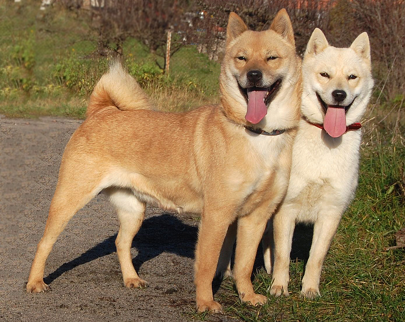
[[[188,113],[144,109],[149,103],[138,84],[119,64],[112,66],[66,146],[27,292],[49,289],[43,273],[53,243],[68,220],[102,191],[117,208],[115,244],[127,287],[146,285],[132,265],[130,248],[146,203],[156,203],[202,214],[195,261],[198,311],[222,311],[211,283],[235,220],[237,290],[244,302],[266,302],[254,293],[250,275],[266,222],[288,184],[299,120],[299,71],[285,10],[262,32],[248,31],[230,14],[219,106]]]

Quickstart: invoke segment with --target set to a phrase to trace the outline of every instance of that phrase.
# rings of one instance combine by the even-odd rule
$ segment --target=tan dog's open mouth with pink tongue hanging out
[[[239,83],[238,83],[239,85]],[[281,79],[277,79],[270,87],[247,87],[239,85],[239,90],[247,102],[245,119],[252,123],[259,123],[267,114],[267,107],[280,89]]]

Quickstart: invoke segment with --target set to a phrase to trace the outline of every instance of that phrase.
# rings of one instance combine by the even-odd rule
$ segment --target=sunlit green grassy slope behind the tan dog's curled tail
[[[87,100],[108,68],[96,54],[97,35],[87,17],[38,10],[36,2],[0,4],[0,113],[9,117],[63,115],[83,118]],[[135,39],[123,45],[128,71],[158,109],[186,111],[218,100],[220,66],[195,46],[171,58],[169,75]]]

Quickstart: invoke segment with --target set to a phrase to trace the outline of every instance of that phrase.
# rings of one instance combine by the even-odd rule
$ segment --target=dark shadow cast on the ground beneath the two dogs
[[[309,249],[312,241],[311,226],[297,225],[294,230],[292,243],[292,251],[290,258],[292,260],[307,261]],[[194,250],[197,242],[198,227],[190,226],[183,223],[175,215],[170,213],[162,213],[162,215],[147,218],[139,232],[132,241],[132,247],[138,250],[138,254],[132,259],[134,268],[139,271],[139,268],[147,260],[155,258],[163,252],[177,254],[179,256],[194,259]],[[88,249],[79,257],[62,264],[54,272],[44,278],[46,284],[60,277],[63,273],[74,269],[80,265],[86,264],[97,258],[110,255],[116,252],[115,239],[117,234],[114,234],[101,243]],[[233,259],[233,258],[232,258]],[[256,272],[261,267],[264,267],[263,253],[261,245],[258,247],[254,269]],[[213,293],[215,294],[220,288],[221,281],[213,281]]]

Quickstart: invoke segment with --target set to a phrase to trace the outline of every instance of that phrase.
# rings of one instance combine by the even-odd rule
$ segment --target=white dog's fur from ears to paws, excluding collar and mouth
[[[342,105],[354,102],[346,113],[347,125],[360,122],[367,107],[373,79],[371,77],[369,39],[360,34],[350,48],[328,45],[319,29],[309,40],[303,60],[303,118],[323,124],[324,111],[315,92],[327,104],[333,104],[332,92],[345,90]],[[328,73],[329,78],[320,73]],[[356,79],[349,79],[349,75]],[[358,180],[361,130],[350,131],[338,138],[301,120],[294,141],[290,183],[286,197],[273,218],[274,267],[271,294],[288,296],[288,268],[292,234],[296,222],[314,224],[309,260],[301,293],[313,298],[320,295],[322,263],[345,211],[352,201]],[[270,235],[264,235],[264,261],[272,271]]]

